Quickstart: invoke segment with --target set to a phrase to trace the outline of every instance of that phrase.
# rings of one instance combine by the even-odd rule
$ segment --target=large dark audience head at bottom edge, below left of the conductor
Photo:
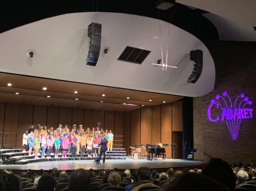
[[[68,189],[70,191],[91,190],[91,177],[89,172],[84,170],[84,168],[74,170],[70,177]]]

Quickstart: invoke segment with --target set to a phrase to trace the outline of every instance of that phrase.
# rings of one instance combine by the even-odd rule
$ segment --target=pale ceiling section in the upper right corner
[[[176,0],[176,2],[217,14],[243,27],[256,26],[255,0]]]

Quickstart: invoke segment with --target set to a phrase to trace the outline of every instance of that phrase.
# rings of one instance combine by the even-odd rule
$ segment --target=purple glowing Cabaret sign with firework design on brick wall
[[[238,137],[241,120],[253,117],[252,101],[241,93],[233,102],[227,92],[216,95],[207,109],[207,116],[211,122],[224,121],[227,124],[232,140]],[[215,110],[214,114],[211,112]],[[216,112],[217,111],[217,112]]]

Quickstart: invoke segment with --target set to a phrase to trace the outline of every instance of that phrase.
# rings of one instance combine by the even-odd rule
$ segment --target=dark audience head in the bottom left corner
[[[9,173],[3,176],[5,190],[18,191],[19,190],[19,179],[15,174]]]

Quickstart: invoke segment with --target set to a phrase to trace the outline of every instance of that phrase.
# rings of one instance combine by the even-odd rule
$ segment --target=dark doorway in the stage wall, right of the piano
[[[176,148],[174,148],[174,156],[172,158],[178,158],[182,159],[183,157],[183,133],[182,131],[172,131],[172,143],[175,143],[177,145]]]

